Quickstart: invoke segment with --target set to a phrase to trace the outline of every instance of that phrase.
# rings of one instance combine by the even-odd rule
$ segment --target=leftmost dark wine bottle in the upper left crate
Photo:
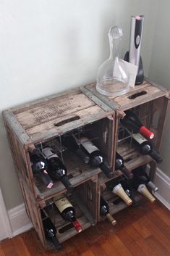
[[[33,174],[38,174],[43,184],[48,189],[51,189],[51,187],[54,185],[54,182],[48,175],[48,164],[46,158],[43,156],[41,150],[36,149],[35,146],[30,146],[28,150],[30,154],[30,162]]]

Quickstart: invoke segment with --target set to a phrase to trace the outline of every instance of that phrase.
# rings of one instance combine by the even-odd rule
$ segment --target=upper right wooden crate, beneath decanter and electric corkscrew
[[[126,110],[132,110],[138,116],[140,114],[140,120],[150,131],[155,133],[152,143],[159,150],[169,102],[169,91],[148,80],[145,80],[140,86],[131,88],[127,94],[110,98],[99,94],[96,91],[95,83],[90,83],[85,88],[115,110],[114,148],[116,150],[114,151],[113,159],[115,159],[115,152],[119,152],[124,157],[125,165],[129,170],[133,170],[140,165],[152,161],[150,156],[140,154],[139,150],[131,143],[132,140],[129,140],[129,135],[119,140],[121,129],[119,120],[124,117],[124,111]],[[152,161],[150,165],[152,167],[150,169],[150,177],[153,178],[156,164]],[[117,175],[122,175],[122,173],[118,171],[116,172]],[[101,179],[103,178],[103,182],[107,181],[107,178],[103,174],[100,176]]]

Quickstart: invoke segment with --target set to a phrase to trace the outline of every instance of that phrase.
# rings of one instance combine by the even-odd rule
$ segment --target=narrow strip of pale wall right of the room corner
[[[163,0],[158,4],[158,17],[156,21],[155,36],[153,38],[153,51],[150,62],[149,77],[151,80],[170,89],[170,33],[169,33],[170,1]],[[166,128],[163,134],[161,154],[163,163],[160,168],[170,177],[170,108],[166,118]]]

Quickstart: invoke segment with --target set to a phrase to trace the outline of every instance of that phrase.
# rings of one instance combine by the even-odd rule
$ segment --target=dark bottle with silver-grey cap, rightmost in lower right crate
[[[150,178],[143,167],[132,170],[132,173],[138,183],[145,184],[151,191],[153,191],[153,193],[158,191],[158,187],[153,183],[153,181],[150,181]]]

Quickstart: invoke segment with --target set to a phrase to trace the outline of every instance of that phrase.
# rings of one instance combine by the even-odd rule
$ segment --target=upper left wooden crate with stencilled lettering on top
[[[46,189],[33,176],[27,150],[31,144],[43,146],[61,140],[65,133],[87,131],[106,156],[109,166],[113,165],[114,111],[86,89],[82,93],[76,88],[14,107],[4,111],[3,116],[17,172],[39,200],[53,197],[59,191],[63,193],[65,189],[60,181],[52,189]],[[59,153],[69,167],[69,178],[74,186],[101,172],[98,168],[83,165],[74,154],[62,154],[62,150]]]

